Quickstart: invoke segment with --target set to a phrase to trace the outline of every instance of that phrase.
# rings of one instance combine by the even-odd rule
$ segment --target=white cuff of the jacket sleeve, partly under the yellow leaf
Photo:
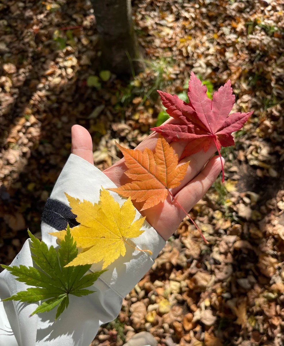
[[[85,161],[79,156],[71,154],[66,162],[55,186],[50,195],[51,198],[68,205],[68,200],[64,192],[79,198],[80,200],[88,200],[92,203],[98,202],[100,197],[100,189],[103,186],[107,188],[115,188],[115,184],[99,169]],[[111,195],[120,205],[125,202],[125,198],[115,192],[110,191]],[[141,214],[136,211],[136,219]],[[126,254],[120,256],[103,273],[99,279],[104,281],[113,291],[120,297],[124,298],[129,293],[143,275],[154,264],[155,258],[165,245],[165,240],[155,231],[153,227],[145,220],[142,229],[143,234],[130,241],[135,247],[140,249],[149,249],[152,255],[145,252],[137,251],[126,244]],[[42,240],[48,245],[56,246],[56,238],[48,233],[55,229],[45,222],[41,224]],[[91,271],[101,270],[102,264],[96,263],[91,267]]]

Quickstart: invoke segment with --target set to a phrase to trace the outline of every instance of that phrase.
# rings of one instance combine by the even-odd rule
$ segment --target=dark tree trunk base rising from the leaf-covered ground
[[[101,39],[102,66],[116,74],[139,71],[131,18],[131,0],[91,0]]]

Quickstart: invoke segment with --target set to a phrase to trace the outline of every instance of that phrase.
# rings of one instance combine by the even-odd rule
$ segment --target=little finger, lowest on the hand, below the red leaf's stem
[[[222,157],[223,164],[224,158]],[[217,179],[221,172],[221,161],[219,156],[214,156],[209,160],[205,168],[181,189],[175,198],[185,210],[190,210],[205,195],[210,186]],[[174,203],[174,201],[172,202]],[[184,217],[184,212],[179,210],[180,219]]]

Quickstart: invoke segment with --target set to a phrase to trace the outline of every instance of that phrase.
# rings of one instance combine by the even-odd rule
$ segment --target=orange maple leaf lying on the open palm
[[[189,162],[178,165],[178,155],[163,137],[158,138],[155,153],[145,148],[127,149],[116,145],[122,151],[128,170],[125,174],[132,180],[119,188],[108,189],[136,202],[144,202],[141,210],[164,202],[169,189],[176,188],[184,178]]]

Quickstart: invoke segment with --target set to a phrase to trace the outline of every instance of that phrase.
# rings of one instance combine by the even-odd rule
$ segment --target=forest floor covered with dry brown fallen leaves
[[[282,5],[281,5],[282,3]],[[162,111],[155,90],[185,93],[190,72],[234,111],[254,110],[223,149],[220,177],[191,210],[119,317],[92,345],[150,331],[162,346],[284,344],[284,11],[281,0],[132,3],[145,70],[102,72],[88,1],[0,4],[0,263],[40,237],[45,201],[70,153],[70,128],[92,135],[95,165],[134,148]],[[163,113],[160,113],[160,117]]]

